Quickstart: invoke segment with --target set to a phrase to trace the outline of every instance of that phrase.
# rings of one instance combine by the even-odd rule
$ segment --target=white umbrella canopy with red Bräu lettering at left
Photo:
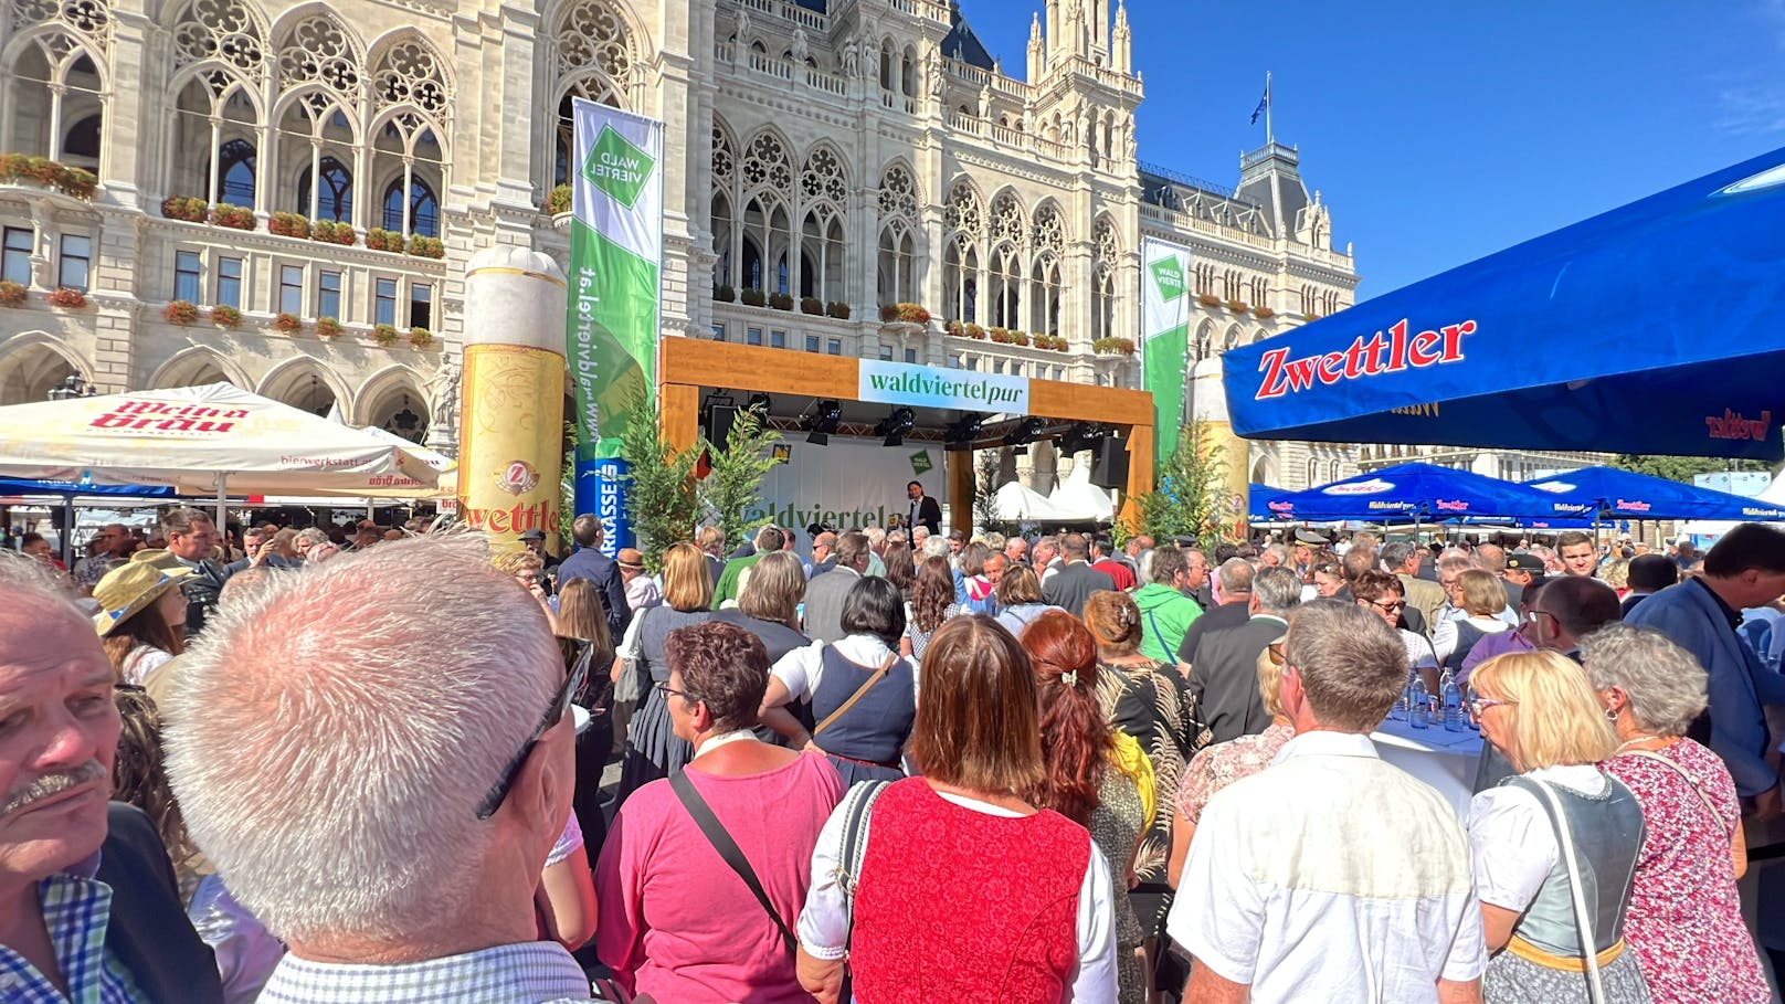
[[[0,475],[182,495],[414,495],[441,479],[412,443],[230,384],[0,407]]]

